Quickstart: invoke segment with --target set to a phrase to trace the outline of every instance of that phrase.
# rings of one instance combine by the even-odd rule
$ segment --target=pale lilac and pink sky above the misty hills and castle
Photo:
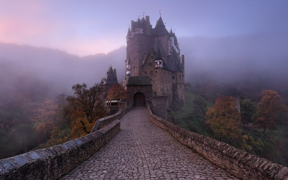
[[[0,42],[80,56],[126,45],[131,20],[159,10],[178,37],[224,37],[288,31],[288,1],[14,1],[0,0]],[[181,46],[181,42],[180,42]]]

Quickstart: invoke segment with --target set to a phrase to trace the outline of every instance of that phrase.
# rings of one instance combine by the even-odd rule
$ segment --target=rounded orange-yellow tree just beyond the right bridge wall
[[[236,109],[235,100],[229,96],[219,96],[215,105],[206,112],[206,124],[221,140],[233,141],[240,137],[240,113]]]

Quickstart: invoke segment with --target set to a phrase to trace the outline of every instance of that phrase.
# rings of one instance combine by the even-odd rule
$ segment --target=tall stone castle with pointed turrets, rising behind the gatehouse
[[[177,37],[172,28],[170,32],[166,29],[161,16],[154,28],[149,16],[138,18],[137,22],[132,20],[126,42],[126,77],[123,85],[126,85],[129,77],[149,76],[154,100],[166,96],[169,108],[173,95],[178,94],[184,105],[184,55],[180,55]]]

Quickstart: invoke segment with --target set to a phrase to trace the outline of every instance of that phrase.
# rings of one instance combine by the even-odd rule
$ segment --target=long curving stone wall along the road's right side
[[[187,131],[154,115],[147,105],[149,120],[169,132],[183,145],[191,148],[221,168],[244,180],[287,180],[288,167],[237,149],[218,140]]]

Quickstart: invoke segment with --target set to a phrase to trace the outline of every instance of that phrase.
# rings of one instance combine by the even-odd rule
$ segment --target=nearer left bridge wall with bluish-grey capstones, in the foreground
[[[0,160],[0,179],[58,179],[98,151],[119,130],[120,121],[115,120],[73,141]]]

